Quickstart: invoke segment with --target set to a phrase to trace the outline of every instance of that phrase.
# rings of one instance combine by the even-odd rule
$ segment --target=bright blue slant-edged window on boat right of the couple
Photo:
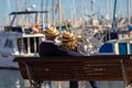
[[[99,53],[113,53],[113,46],[111,43],[105,43],[100,50]]]

